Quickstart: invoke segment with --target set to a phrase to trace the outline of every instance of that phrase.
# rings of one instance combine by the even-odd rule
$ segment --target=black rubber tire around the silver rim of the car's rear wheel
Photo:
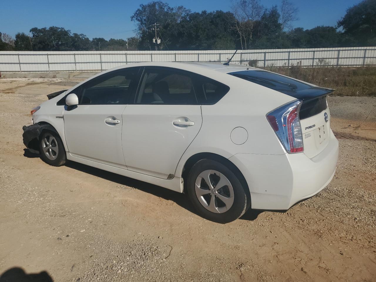
[[[225,205],[225,209],[227,209],[227,210],[224,211],[224,212],[215,213],[215,212],[209,211],[208,208],[205,208],[203,206],[203,204],[200,203],[199,197],[196,196],[196,179],[200,179],[200,178],[197,178],[197,177],[202,175],[202,173],[206,174],[205,173],[206,170],[218,171],[220,174],[225,176],[226,180],[228,180],[230,182],[230,185],[232,186],[233,203],[232,203],[232,205],[229,209],[227,209],[227,206],[224,202],[219,201],[219,203],[218,203],[218,198],[214,197],[214,205],[216,205],[216,207],[217,207],[217,204],[218,204],[218,206],[219,206],[219,204]],[[213,175],[215,175],[215,174],[211,174],[212,178],[209,177],[209,179],[213,179],[214,178]],[[199,181],[202,181],[202,180],[199,180]],[[214,179],[213,179],[213,183],[215,185]],[[218,182],[217,182],[217,184],[218,184]],[[204,183],[204,185],[205,185],[205,183]],[[237,218],[241,217],[244,214],[244,212],[246,212],[247,208],[249,208],[249,206],[250,206],[250,197],[246,193],[246,191],[244,189],[245,187],[241,184],[241,181],[238,179],[238,177],[235,175],[235,173],[233,171],[231,171],[228,167],[226,167],[226,165],[224,165],[220,162],[211,160],[211,159],[202,159],[202,160],[198,161],[196,164],[193,165],[193,167],[190,170],[190,173],[188,174],[188,181],[187,181],[186,187],[187,187],[188,196],[189,196],[194,208],[196,209],[196,211],[203,218],[206,218],[206,219],[211,220],[211,221],[215,221],[215,222],[218,222],[218,223],[229,223],[229,222],[236,220]],[[224,187],[224,189],[229,189],[228,186],[223,186],[223,187]],[[208,189],[210,191],[209,187],[208,187]],[[214,189],[215,189],[215,187],[214,187]],[[203,190],[205,190],[205,189],[203,189]],[[207,197],[208,200],[204,200],[204,201],[206,201],[205,203],[208,204],[208,202],[211,201],[211,197],[213,197],[213,194],[209,193],[205,196],[202,196],[202,198],[200,198],[200,199],[203,200],[204,197]],[[208,197],[210,197],[210,198],[208,198]]]

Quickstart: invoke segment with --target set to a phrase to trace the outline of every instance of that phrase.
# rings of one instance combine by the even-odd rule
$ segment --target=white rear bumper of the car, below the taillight
[[[338,161],[338,141],[330,132],[329,143],[317,156],[236,154],[229,160],[243,173],[253,209],[287,210],[319,193],[331,182]]]

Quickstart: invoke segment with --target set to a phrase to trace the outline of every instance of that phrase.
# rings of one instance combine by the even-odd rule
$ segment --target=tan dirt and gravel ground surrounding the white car
[[[79,80],[0,79],[1,282],[376,281],[376,99],[330,98],[340,159],[321,193],[218,224],[184,194],[25,149],[30,109]]]

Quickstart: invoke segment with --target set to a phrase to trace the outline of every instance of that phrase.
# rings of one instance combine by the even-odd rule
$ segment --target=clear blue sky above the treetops
[[[29,33],[32,27],[58,26],[75,33],[93,37],[123,38],[134,35],[135,24],[130,16],[146,1],[129,0],[0,0],[0,32],[13,36]],[[223,0],[167,0],[170,6],[183,5],[192,11],[229,11],[231,1]],[[318,25],[334,26],[346,9],[360,0],[292,0],[299,8],[299,20],[294,27],[311,29]],[[261,0],[264,6],[279,5],[280,1]]]

